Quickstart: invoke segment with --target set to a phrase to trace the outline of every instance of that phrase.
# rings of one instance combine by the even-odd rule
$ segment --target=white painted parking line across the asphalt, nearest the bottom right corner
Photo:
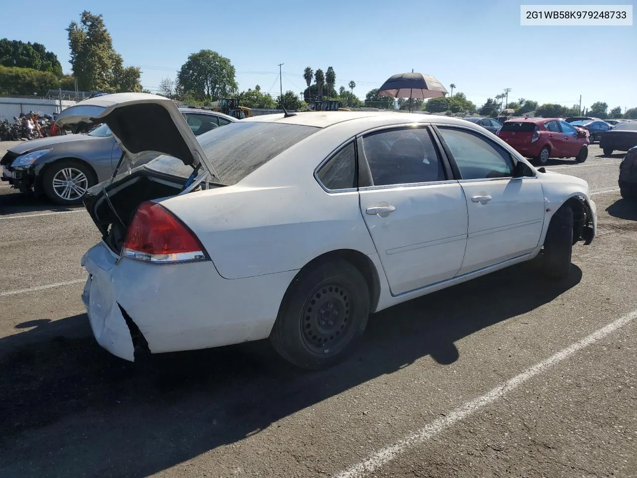
[[[535,375],[538,375],[538,373],[544,372],[545,370],[547,370],[547,368],[557,365],[562,360],[569,358],[571,355],[575,354],[575,352],[578,352],[583,348],[594,344],[594,342],[605,338],[607,335],[626,325],[628,322],[632,321],[635,318],[637,318],[637,310],[633,310],[633,312],[620,317],[616,321],[611,322],[605,327],[602,327],[598,331],[595,331],[579,342],[575,342],[575,344],[566,347],[566,349],[562,349],[561,351],[541,361],[540,363],[533,365],[531,368],[527,368],[524,372],[520,373],[520,375],[513,377],[512,379],[495,387],[494,389],[491,389],[489,392],[485,393],[485,395],[474,398],[469,402],[465,402],[463,405],[455,410],[452,410],[444,417],[434,420],[423,428],[420,428],[420,430],[416,431],[415,433],[404,437],[402,440],[397,441],[387,448],[383,448],[382,450],[370,456],[367,460],[362,461],[361,463],[357,463],[357,465],[354,465],[353,467],[334,475],[334,478],[357,478],[371,473],[374,470],[377,470],[386,463],[389,463],[389,461],[394,460],[394,458],[397,458],[401,454],[408,451],[410,447],[426,442],[427,440],[429,440],[429,438],[434,437],[441,431],[444,431],[450,426],[453,426],[455,423],[468,417],[474,412],[483,409],[487,405],[490,405],[490,403],[496,402],[498,398],[505,396],[507,393],[519,387],[527,380],[533,378]]]

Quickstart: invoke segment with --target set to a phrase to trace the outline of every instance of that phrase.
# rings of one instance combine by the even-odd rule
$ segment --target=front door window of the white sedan
[[[440,126],[438,129],[454,157],[462,179],[513,176],[513,161],[502,148],[468,131]]]

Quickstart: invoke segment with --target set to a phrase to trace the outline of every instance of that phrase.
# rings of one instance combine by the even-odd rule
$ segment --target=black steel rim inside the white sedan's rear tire
[[[303,308],[303,342],[313,352],[323,353],[338,346],[352,326],[352,292],[340,280],[316,287]]]

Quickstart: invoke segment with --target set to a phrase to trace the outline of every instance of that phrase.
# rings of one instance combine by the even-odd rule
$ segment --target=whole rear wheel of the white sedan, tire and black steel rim
[[[298,367],[327,368],[352,349],[367,326],[368,316],[369,289],[361,272],[347,261],[329,261],[294,279],[283,298],[270,342]]]

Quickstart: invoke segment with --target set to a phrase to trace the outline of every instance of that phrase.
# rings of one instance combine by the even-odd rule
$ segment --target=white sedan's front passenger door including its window
[[[469,214],[459,275],[535,249],[544,221],[540,180],[513,178],[511,155],[481,134],[442,126],[438,131],[461,175]]]

